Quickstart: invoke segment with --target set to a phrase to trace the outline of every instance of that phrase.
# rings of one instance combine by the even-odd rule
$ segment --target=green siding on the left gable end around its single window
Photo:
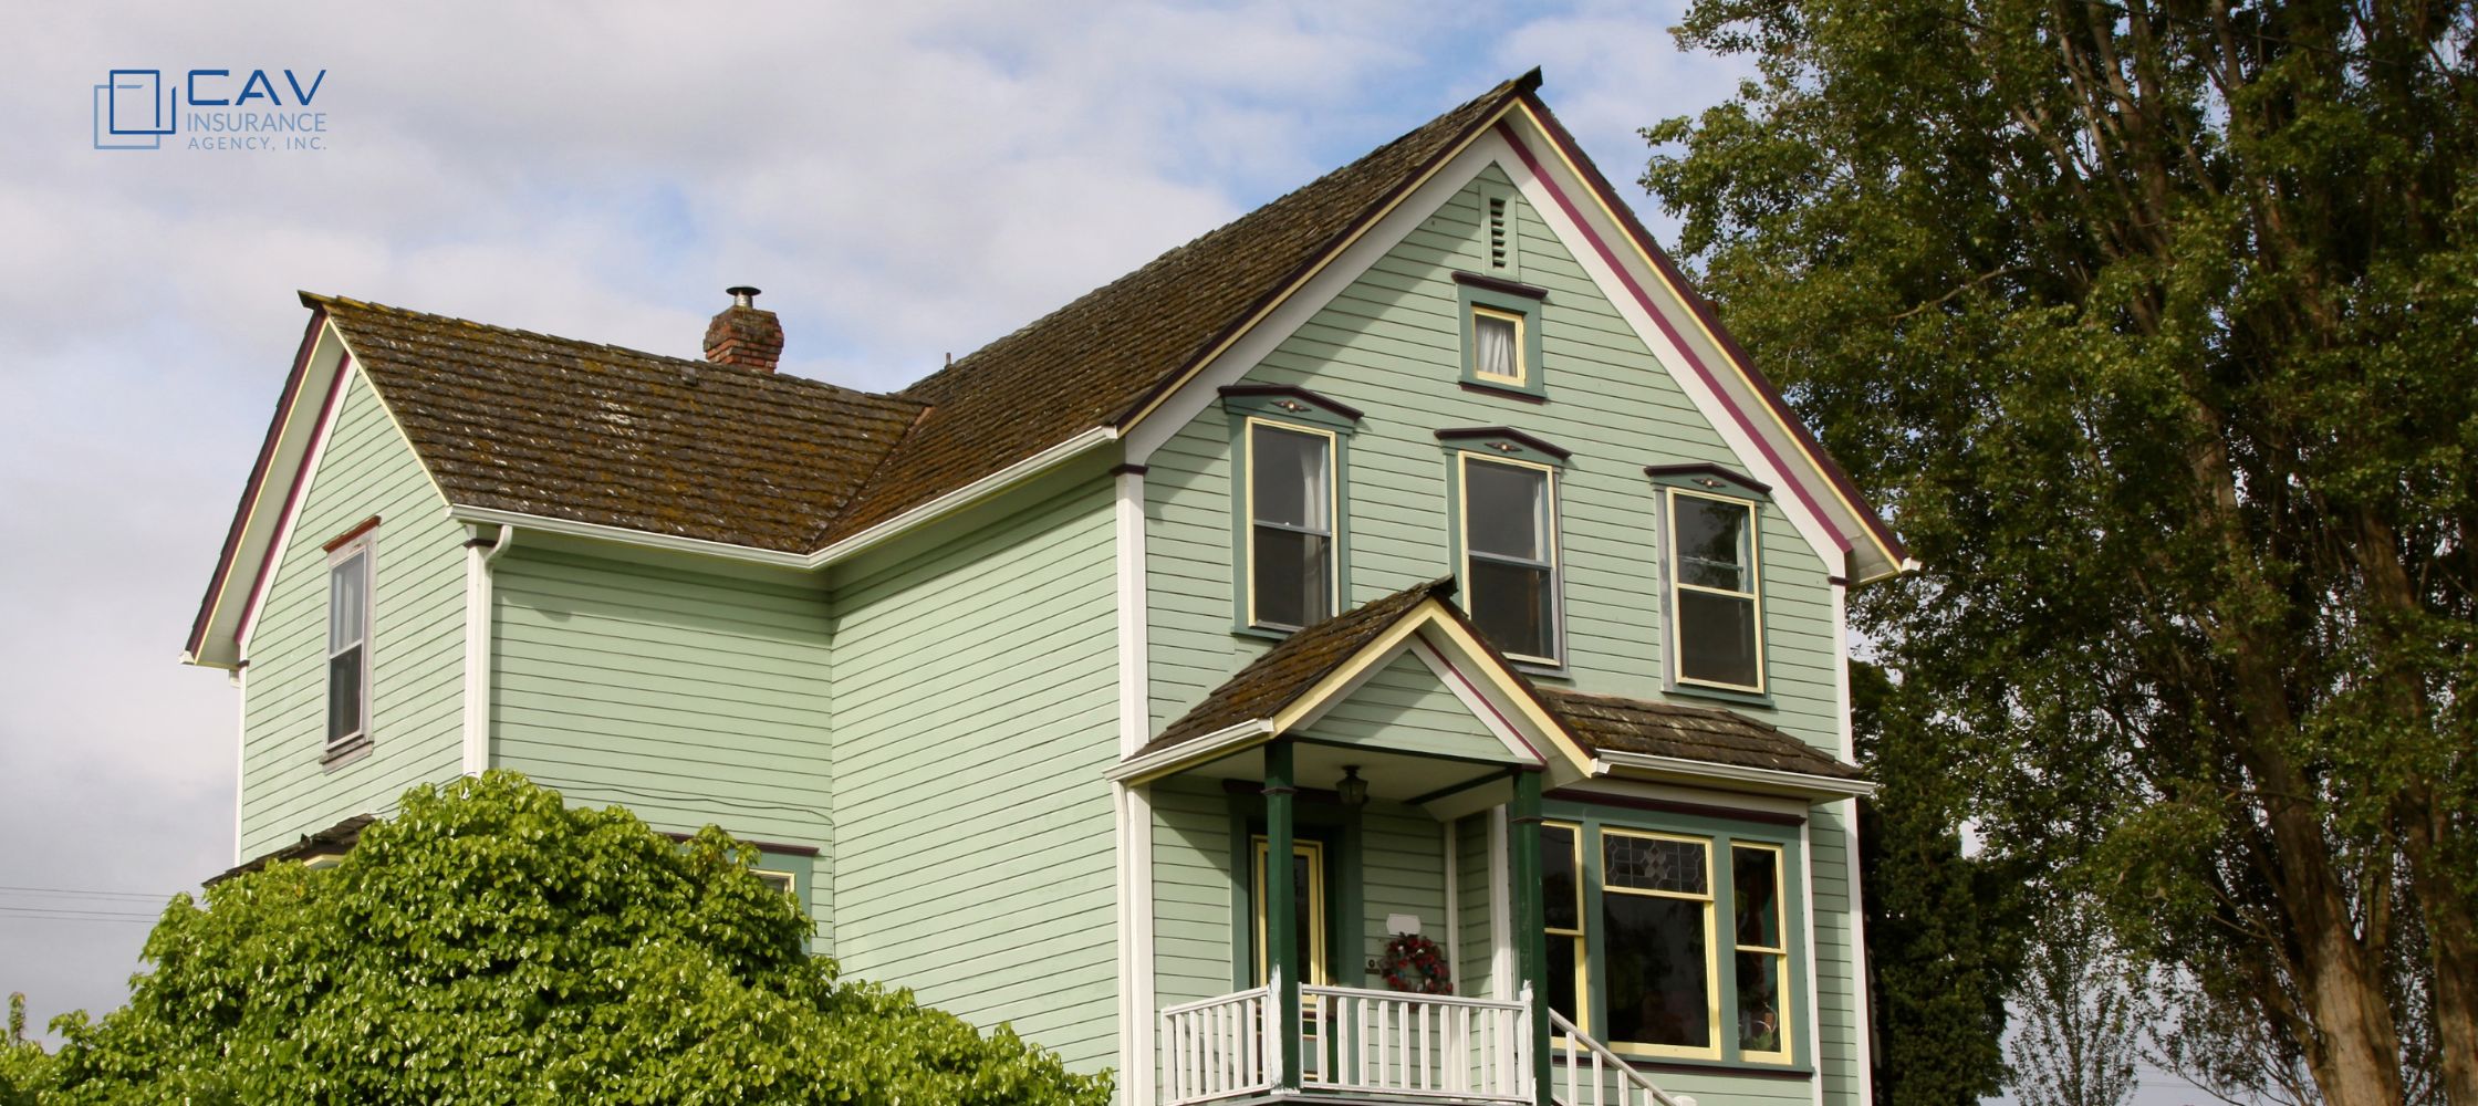
[[[354,374],[268,583],[243,675],[240,856],[295,843],[404,789],[463,771],[463,531]],[[374,580],[367,756],[327,751],[327,551],[369,516]]]

